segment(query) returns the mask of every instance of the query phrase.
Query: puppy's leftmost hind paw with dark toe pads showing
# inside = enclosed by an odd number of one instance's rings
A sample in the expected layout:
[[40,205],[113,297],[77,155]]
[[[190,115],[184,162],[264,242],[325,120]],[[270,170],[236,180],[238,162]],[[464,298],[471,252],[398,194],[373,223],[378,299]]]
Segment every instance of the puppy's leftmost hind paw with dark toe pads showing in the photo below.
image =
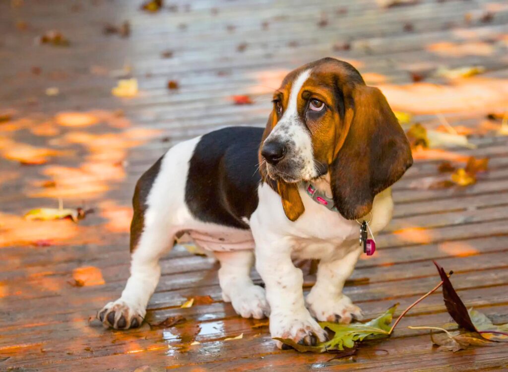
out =
[[136,308],[136,306],[129,305],[125,301],[118,299],[104,306],[97,313],[97,319],[105,327],[129,329],[139,327],[143,322],[145,314],[145,309]]

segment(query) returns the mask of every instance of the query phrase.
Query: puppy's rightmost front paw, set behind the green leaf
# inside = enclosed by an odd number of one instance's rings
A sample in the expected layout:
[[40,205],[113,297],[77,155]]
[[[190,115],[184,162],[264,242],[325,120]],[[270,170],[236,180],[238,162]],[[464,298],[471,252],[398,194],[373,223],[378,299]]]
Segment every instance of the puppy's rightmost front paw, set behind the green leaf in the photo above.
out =
[[320,322],[351,323],[363,318],[362,310],[343,294],[339,296],[313,296],[305,299],[310,314]]

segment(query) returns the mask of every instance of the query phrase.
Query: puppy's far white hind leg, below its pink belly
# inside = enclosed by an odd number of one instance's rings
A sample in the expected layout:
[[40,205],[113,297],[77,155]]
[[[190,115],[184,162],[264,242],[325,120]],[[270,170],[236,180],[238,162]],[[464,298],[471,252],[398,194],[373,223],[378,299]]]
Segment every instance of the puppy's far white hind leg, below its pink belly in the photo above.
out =
[[219,284],[225,302],[231,302],[243,318],[262,319],[270,314],[265,290],[252,283],[253,251],[214,252],[220,261]]

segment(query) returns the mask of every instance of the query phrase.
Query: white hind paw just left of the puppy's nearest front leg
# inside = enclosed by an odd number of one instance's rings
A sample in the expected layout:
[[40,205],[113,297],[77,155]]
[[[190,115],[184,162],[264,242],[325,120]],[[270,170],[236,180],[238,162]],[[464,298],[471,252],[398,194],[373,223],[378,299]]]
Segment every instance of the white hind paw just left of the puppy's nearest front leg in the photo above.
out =
[[270,315],[265,289],[260,286],[249,286],[237,291],[231,296],[231,304],[236,314],[242,318],[263,319]]

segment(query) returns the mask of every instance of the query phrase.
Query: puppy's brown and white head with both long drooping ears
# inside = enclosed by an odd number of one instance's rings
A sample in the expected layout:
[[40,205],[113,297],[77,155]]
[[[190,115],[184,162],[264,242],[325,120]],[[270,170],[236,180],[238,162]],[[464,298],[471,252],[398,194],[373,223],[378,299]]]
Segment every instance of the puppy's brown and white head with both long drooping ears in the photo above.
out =
[[334,58],[284,78],[273,96],[259,157],[262,177],[276,182],[291,221],[304,211],[301,181],[329,173],[335,206],[352,220],[366,215],[374,196],[412,164],[409,143],[385,96]]

